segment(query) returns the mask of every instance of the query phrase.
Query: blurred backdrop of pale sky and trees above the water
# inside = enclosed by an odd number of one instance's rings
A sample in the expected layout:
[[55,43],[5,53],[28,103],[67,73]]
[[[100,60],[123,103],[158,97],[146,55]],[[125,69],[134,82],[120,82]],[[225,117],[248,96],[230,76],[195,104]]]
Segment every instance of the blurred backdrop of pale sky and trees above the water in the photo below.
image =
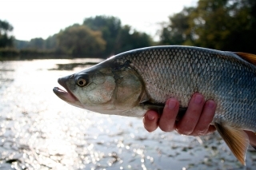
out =
[[2,1],[0,55],[110,57],[150,45],[256,53],[254,0]]

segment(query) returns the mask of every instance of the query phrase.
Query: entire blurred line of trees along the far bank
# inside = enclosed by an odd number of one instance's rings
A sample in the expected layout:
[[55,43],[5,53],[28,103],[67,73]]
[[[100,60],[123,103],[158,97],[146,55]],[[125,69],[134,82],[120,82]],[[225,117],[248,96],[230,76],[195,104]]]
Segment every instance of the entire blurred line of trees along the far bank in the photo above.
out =
[[40,51],[55,56],[110,57],[150,45],[194,45],[256,53],[256,1],[199,0],[197,6],[185,7],[161,24],[158,42],[131,26],[122,26],[119,18],[102,15],[85,18],[81,25],[69,26],[46,40],[18,41],[8,36],[12,30],[13,26],[0,20],[0,48],[15,47],[17,53],[25,54]]

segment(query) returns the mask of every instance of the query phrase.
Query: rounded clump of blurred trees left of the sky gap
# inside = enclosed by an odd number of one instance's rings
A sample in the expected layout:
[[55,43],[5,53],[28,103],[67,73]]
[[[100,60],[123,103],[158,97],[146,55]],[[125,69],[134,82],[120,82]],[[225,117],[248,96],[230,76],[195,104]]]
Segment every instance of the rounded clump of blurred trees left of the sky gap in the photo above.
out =
[[[86,18],[81,25],[68,26],[46,40],[14,40],[12,45],[23,55],[37,53],[52,54],[55,57],[68,55],[106,58],[126,50],[153,45],[153,41],[148,34],[134,30],[131,26],[122,26],[119,18],[100,15]],[[18,53],[18,50],[16,52]]]

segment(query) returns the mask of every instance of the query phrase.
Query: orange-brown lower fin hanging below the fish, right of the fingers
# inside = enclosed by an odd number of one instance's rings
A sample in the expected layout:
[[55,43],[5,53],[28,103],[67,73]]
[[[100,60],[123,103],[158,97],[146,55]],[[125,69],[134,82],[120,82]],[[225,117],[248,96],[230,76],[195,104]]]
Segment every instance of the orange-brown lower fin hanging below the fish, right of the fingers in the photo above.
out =
[[218,123],[215,123],[214,125],[223,140],[225,140],[231,152],[234,153],[234,156],[236,156],[243,165],[246,165],[246,152],[250,144],[246,132],[242,129],[233,128],[228,125],[220,125]]

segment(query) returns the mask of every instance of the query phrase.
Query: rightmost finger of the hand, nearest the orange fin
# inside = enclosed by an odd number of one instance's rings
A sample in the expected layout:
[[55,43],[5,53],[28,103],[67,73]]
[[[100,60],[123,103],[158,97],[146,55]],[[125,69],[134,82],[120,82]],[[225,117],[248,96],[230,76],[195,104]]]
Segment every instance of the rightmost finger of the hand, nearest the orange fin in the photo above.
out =
[[206,101],[202,109],[201,117],[198,120],[198,124],[195,126],[194,131],[190,135],[201,136],[208,133],[210,123],[214,119],[215,109],[216,104],[214,101]]

